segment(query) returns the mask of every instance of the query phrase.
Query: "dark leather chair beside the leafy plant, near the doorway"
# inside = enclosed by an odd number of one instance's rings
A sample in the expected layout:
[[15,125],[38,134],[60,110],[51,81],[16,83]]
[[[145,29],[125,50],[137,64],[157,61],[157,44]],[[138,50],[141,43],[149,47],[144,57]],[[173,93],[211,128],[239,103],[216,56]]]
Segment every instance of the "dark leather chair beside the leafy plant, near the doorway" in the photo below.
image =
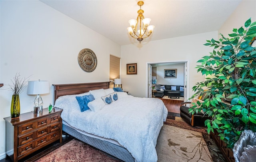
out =
[[182,102],[180,105],[180,117],[186,121],[188,124],[191,124],[191,126],[202,126],[205,127],[204,121],[206,119],[210,119],[208,115],[204,115],[201,112],[198,112],[197,114],[194,113],[193,115],[189,113],[189,108],[185,106],[184,104],[191,104],[191,102]]

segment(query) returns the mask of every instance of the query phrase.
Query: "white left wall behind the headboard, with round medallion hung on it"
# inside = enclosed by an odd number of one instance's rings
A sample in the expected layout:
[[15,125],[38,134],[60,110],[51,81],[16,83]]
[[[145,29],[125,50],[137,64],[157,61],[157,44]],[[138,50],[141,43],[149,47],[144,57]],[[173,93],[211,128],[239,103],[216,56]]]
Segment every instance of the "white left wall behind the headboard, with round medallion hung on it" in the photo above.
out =
[[[6,90],[16,72],[30,80],[62,83],[103,82],[109,80],[109,55],[120,57],[121,47],[108,38],[54,10],[33,1],[0,1],[0,159],[5,156],[5,122],[10,116],[12,92]],[[98,58],[93,72],[78,65],[78,53],[90,48]],[[20,94],[20,112],[33,110],[35,96]],[[53,103],[50,94],[42,96],[44,107]]]

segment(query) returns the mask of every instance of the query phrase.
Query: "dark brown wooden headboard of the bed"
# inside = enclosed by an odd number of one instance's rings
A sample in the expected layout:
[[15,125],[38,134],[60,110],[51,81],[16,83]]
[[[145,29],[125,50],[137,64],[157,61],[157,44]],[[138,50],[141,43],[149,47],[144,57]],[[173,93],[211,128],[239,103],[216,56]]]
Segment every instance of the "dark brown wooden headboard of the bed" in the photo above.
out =
[[76,83],[76,84],[52,84],[54,86],[54,103],[60,96],[81,94],[89,90],[108,89],[110,82]]

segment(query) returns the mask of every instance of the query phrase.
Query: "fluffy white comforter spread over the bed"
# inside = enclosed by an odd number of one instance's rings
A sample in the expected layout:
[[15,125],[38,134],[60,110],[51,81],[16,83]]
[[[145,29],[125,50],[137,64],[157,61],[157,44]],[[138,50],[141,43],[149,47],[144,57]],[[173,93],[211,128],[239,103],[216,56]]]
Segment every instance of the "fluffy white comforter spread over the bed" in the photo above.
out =
[[55,107],[62,120],[84,132],[116,140],[137,162],[156,162],[156,141],[168,110],[157,98],[127,95],[98,112],[80,112],[75,96],[61,96]]

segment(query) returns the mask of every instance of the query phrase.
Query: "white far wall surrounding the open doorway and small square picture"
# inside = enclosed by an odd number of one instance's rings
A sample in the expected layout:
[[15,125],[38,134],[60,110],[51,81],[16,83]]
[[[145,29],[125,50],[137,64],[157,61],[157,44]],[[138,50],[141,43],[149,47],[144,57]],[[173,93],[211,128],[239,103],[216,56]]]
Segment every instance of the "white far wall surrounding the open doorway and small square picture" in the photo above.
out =
[[[212,38],[218,38],[217,31],[165,40],[145,41],[137,46],[134,44],[122,46],[121,78],[123,89],[129,91],[129,94],[133,96],[146,97],[146,64],[151,62],[188,61],[189,82],[187,96],[189,98],[193,94],[192,86],[194,86],[196,82],[204,80],[204,76],[197,73],[195,67],[197,65],[196,62],[202,56],[212,52],[213,48],[203,45],[206,43],[206,39]],[[129,63],[137,63],[137,75],[126,75],[126,64]]]

